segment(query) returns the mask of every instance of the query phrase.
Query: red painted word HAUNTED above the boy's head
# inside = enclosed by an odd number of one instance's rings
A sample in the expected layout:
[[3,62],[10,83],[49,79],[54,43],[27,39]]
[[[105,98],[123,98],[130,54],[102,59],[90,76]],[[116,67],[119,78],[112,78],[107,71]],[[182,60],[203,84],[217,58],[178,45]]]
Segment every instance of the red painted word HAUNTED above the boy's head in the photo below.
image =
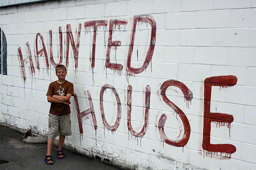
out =
[[[132,53],[133,53],[133,48],[134,48],[134,40],[135,40],[135,33],[136,33],[136,25],[137,23],[141,24],[149,24],[151,26],[151,38],[150,38],[150,44],[148,47],[148,51],[145,57],[145,60],[143,62],[143,65],[140,68],[133,68],[131,66],[131,58],[132,58]],[[113,41],[112,40],[112,35],[113,35],[113,29],[115,27],[126,26],[128,24],[128,21],[126,19],[111,19],[109,20],[109,36],[108,36],[108,46],[107,46],[107,52],[106,52],[106,62],[105,66],[106,68],[112,69],[114,71],[119,71],[121,74],[121,71],[123,70],[122,64],[118,63],[112,63],[110,62],[110,53],[111,53],[111,48],[117,48],[118,46],[121,46],[121,41]],[[85,28],[85,34],[88,32],[88,30],[93,29],[93,41],[92,41],[92,53],[91,53],[91,69],[93,71],[93,68],[95,67],[95,50],[96,50],[96,35],[99,27],[104,27],[106,29],[108,25],[107,20],[91,20],[91,21],[86,21],[84,23],[84,28]],[[77,37],[76,37],[76,43],[74,40],[74,36],[72,34],[72,29],[70,24],[67,24],[66,28],[66,41],[64,45],[66,45],[66,51],[64,53],[64,57],[66,57],[66,66],[67,68],[69,67],[69,45],[72,46],[72,51],[73,51],[73,57],[74,57],[74,66],[75,69],[78,68],[78,56],[79,56],[79,46],[80,46],[80,34],[81,34],[81,28],[82,24],[78,24],[78,30],[77,30]],[[42,48],[39,49],[39,44],[41,44]],[[128,55],[127,55],[127,60],[126,60],[126,73],[127,75],[134,75],[134,74],[139,74],[143,72],[145,69],[147,69],[153,53],[154,53],[154,46],[156,44],[156,22],[152,16],[134,16],[133,18],[133,23],[132,23],[132,31],[130,35],[130,44],[128,47]],[[56,63],[54,61],[53,57],[53,51],[52,51],[52,30],[49,30],[49,55],[50,55],[50,64],[54,66],[54,68],[58,64],[62,64],[63,62],[63,33],[62,33],[62,28],[59,27],[59,62]],[[22,51],[21,48],[18,48],[18,58],[19,58],[19,63],[21,67],[21,75],[23,77],[24,82],[26,81],[26,71],[24,68],[24,65],[28,62],[30,62],[30,71],[31,74],[35,73],[35,68],[34,68],[34,63],[32,60],[32,53],[30,50],[30,45],[27,42],[26,43],[26,51],[28,53],[28,57],[23,58],[22,56]],[[37,33],[35,37],[35,60],[37,64],[37,69],[40,69],[40,64],[39,64],[39,57],[45,57],[45,63],[46,63],[46,68],[47,68],[47,73],[48,73],[48,68],[50,67],[49,60],[48,60],[48,53],[47,49],[45,46],[45,40],[43,36],[40,33]]]

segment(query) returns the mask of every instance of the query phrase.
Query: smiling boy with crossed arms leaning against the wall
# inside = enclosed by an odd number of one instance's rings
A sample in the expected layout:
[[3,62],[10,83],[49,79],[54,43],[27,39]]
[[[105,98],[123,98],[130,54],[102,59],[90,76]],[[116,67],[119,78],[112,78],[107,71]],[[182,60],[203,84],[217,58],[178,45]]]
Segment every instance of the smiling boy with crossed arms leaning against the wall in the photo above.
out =
[[65,136],[70,136],[70,97],[74,95],[74,85],[65,80],[67,68],[64,65],[57,65],[55,68],[57,81],[51,82],[46,94],[48,102],[51,103],[49,112],[49,135],[47,141],[47,154],[45,155],[45,163],[52,165],[52,146],[54,138],[59,135],[58,159],[63,159],[62,146]]

